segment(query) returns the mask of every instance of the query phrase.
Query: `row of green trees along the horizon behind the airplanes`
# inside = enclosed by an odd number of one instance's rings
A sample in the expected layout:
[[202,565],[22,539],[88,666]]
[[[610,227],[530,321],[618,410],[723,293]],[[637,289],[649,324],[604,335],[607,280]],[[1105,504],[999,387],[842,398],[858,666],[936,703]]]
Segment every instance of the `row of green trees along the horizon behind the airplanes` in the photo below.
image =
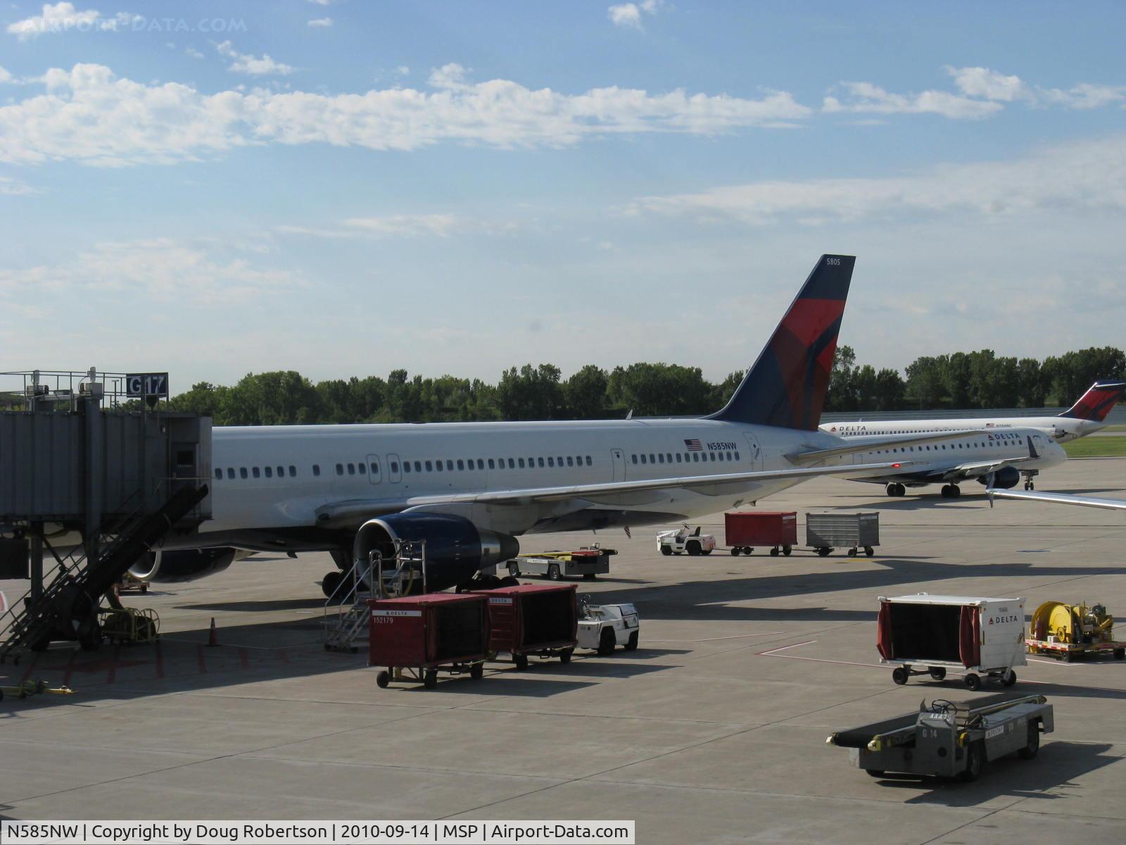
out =
[[[849,346],[837,350],[826,411],[1070,406],[1096,379],[1126,374],[1120,349],[1082,349],[1043,362],[998,357],[990,349],[921,357],[904,374],[858,365]],[[480,379],[411,376],[330,379],[301,373],[250,373],[225,386],[200,382],[173,397],[171,410],[209,413],[215,425],[320,422],[456,422],[518,419],[606,419],[690,416],[717,410],[743,377],[707,381],[699,367],[593,364],[564,379],[552,364],[525,364]]]

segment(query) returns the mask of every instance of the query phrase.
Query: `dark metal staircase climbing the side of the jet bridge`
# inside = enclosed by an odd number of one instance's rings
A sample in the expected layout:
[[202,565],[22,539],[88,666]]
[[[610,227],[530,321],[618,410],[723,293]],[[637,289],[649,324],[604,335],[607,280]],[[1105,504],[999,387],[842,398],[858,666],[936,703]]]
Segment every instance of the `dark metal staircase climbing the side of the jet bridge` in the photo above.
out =
[[182,487],[157,510],[138,508],[107,530],[92,546],[95,557],[87,555],[86,546],[63,558],[55,555],[59,566],[42,596],[33,601],[29,592],[0,616],[0,637],[5,638],[0,664],[9,658],[19,662],[26,650],[42,650],[52,639],[77,639],[86,649],[97,648],[101,597],[206,496],[206,484]]

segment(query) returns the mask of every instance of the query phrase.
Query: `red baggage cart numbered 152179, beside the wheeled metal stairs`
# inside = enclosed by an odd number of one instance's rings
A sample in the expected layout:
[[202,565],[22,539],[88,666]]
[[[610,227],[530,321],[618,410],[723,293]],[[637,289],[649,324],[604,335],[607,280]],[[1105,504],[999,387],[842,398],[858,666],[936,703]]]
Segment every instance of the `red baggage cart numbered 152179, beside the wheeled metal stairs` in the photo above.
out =
[[438,683],[438,671],[468,673],[476,679],[489,653],[488,596],[430,593],[401,598],[369,598],[368,666],[386,666],[375,682]]

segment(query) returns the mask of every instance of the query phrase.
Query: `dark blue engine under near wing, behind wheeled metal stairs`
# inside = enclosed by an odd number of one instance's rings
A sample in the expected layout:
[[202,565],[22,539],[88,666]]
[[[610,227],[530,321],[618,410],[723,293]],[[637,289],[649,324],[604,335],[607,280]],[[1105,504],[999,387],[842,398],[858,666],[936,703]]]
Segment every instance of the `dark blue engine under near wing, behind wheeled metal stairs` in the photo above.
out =
[[[426,587],[430,592],[464,584],[479,569],[509,561],[520,552],[519,541],[510,534],[479,528],[462,516],[419,512],[368,519],[356,535],[352,557],[366,562],[376,550],[384,570],[394,569],[396,540],[426,541]],[[421,584],[412,587],[414,592],[421,588]]]

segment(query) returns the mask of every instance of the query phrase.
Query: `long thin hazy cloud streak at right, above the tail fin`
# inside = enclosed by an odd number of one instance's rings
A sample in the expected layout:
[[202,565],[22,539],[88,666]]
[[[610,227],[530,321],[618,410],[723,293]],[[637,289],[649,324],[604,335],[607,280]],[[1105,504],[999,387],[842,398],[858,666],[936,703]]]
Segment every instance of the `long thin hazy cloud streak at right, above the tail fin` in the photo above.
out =
[[643,197],[626,208],[751,225],[908,215],[990,219],[1044,210],[1126,212],[1126,135],[1044,148],[1007,161],[939,164],[915,176],[761,181]]

